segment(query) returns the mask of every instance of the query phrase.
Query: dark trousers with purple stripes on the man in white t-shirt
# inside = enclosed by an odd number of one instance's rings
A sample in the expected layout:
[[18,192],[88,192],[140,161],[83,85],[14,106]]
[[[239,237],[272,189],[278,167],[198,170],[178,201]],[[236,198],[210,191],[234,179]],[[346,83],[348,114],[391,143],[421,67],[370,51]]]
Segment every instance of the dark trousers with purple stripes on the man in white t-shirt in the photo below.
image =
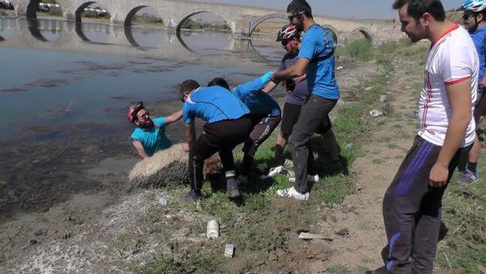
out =
[[[429,174],[440,153],[437,145],[416,136],[383,199],[383,220],[389,241],[386,269],[389,273],[432,273],[442,219],[442,188],[429,186]],[[458,149],[449,164],[449,178],[460,154]],[[415,231],[415,237],[412,232]],[[413,250],[413,251],[412,251]],[[413,258],[413,259],[412,259]]]

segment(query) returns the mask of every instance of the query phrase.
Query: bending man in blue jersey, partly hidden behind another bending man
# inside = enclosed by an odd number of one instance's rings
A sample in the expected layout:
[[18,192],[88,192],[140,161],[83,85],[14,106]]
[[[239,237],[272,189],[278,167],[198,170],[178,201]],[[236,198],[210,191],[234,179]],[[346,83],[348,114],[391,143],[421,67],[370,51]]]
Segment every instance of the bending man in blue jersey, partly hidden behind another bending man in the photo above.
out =
[[[250,82],[237,86],[232,91],[236,97],[243,102],[253,118],[253,130],[243,145],[243,168],[239,176],[239,181],[248,181],[248,172],[252,167],[256,149],[267,140],[274,129],[281,121],[281,110],[279,103],[272,96],[263,92],[262,89],[270,81],[272,72],[256,78]],[[223,78],[214,78],[207,86],[222,86],[231,90],[229,84]]]

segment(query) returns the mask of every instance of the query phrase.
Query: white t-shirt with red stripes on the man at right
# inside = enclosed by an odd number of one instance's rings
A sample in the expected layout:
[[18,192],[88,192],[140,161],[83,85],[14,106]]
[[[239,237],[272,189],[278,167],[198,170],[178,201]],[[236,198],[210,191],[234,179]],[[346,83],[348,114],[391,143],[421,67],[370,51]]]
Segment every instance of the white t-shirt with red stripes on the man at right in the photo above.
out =
[[[418,134],[434,145],[444,145],[452,116],[446,86],[471,80],[471,117],[478,96],[478,53],[469,33],[454,25],[431,45],[425,64],[424,87],[418,104]],[[474,119],[471,118],[461,147],[474,142]]]

